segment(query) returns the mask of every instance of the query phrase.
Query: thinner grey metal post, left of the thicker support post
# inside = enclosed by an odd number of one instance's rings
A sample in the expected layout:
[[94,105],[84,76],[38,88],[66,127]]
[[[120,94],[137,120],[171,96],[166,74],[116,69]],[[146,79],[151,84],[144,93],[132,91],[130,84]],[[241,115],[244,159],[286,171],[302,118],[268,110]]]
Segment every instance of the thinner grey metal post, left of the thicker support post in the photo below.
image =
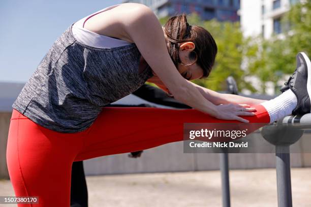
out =
[[230,207],[230,186],[229,186],[229,160],[228,153],[220,154],[220,169],[222,177],[223,206]]

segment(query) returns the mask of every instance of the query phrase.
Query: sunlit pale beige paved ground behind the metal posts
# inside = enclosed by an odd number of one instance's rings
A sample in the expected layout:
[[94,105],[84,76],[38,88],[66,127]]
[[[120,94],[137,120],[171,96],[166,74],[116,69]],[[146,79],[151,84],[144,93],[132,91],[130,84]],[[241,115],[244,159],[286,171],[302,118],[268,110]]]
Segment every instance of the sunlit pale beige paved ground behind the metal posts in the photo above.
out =
[[[311,168],[292,168],[293,206],[311,206]],[[275,169],[231,170],[232,206],[277,206]],[[219,171],[86,177],[89,207],[221,206]],[[8,180],[0,195],[14,195]],[[15,207],[15,205],[1,205]]]

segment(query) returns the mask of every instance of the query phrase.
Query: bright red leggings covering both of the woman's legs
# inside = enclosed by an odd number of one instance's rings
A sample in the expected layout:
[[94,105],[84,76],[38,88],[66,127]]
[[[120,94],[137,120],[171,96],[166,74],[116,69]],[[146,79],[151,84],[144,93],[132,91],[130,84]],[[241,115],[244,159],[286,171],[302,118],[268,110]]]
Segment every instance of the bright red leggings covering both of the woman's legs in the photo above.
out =
[[[253,107],[255,116],[242,117],[253,123],[269,123],[265,108]],[[241,123],[216,119],[194,109],[107,107],[86,130],[59,133],[13,110],[7,144],[11,183],[15,196],[39,196],[39,204],[18,206],[70,206],[74,161],[183,141],[184,122]]]

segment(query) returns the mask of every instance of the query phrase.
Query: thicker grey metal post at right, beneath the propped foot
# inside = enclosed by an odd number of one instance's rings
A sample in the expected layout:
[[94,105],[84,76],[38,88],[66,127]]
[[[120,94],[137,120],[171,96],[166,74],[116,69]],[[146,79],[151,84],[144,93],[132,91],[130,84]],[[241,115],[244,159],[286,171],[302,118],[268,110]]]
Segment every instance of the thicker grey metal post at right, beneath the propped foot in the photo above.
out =
[[275,146],[277,203],[279,207],[292,207],[291,165],[289,145]]

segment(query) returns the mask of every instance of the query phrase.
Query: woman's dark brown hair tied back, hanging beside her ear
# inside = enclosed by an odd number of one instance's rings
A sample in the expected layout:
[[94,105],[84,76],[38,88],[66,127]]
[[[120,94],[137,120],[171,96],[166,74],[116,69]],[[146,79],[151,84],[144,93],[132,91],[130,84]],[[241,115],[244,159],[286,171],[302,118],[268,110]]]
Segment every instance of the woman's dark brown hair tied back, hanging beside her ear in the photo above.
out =
[[202,78],[208,77],[217,54],[217,45],[211,34],[201,26],[189,25],[184,13],[169,18],[164,31],[170,42],[168,51],[175,66],[181,63],[178,43],[190,41],[196,45],[190,53],[190,59],[197,58],[197,64],[203,69]]

